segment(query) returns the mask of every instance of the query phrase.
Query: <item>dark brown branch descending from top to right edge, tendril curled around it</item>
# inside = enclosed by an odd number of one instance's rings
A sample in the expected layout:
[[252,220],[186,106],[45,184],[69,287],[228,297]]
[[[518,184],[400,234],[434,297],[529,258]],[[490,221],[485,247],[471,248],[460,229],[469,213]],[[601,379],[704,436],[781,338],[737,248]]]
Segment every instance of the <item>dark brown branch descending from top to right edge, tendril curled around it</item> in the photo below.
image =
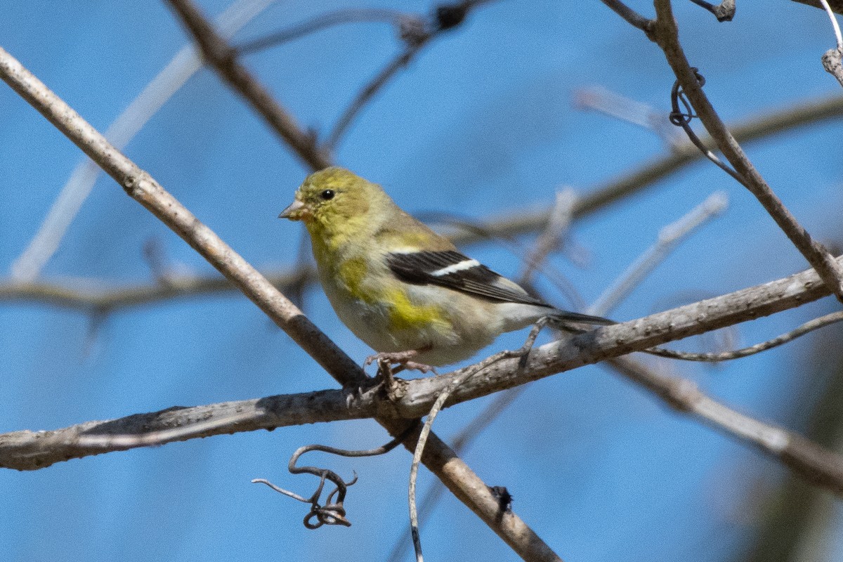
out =
[[685,51],[679,43],[679,29],[674,20],[670,0],[655,0],[657,19],[652,26],[652,39],[662,48],[668,64],[673,69],[677,81],[690,99],[706,131],[717,143],[717,147],[732,164],[735,171],[743,178],[741,182],[770,214],[781,230],[787,234],[794,246],[803,254],[805,260],[813,266],[835,296],[843,302],[843,269],[834,257],[808,234],[796,217],[787,209],[776,194],[767,185],[765,179],[749,161],[738,141],[720,120],[720,116],[702,90],[694,68],[690,67]]

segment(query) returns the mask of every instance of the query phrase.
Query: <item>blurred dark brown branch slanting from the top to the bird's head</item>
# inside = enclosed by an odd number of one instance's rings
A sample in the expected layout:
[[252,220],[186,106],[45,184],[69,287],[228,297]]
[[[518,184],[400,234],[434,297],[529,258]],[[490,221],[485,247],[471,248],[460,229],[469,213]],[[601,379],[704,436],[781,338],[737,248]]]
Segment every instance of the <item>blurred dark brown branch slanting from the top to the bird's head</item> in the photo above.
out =
[[330,166],[330,156],[316,146],[314,136],[302,131],[293,117],[287,114],[287,110],[277,103],[263,84],[240,64],[236,51],[228,45],[222,35],[213,29],[196,5],[191,0],[169,0],[169,4],[196,40],[208,64],[249,102],[252,108],[282,137],[282,140],[293,148],[293,152],[311,169],[323,169]]

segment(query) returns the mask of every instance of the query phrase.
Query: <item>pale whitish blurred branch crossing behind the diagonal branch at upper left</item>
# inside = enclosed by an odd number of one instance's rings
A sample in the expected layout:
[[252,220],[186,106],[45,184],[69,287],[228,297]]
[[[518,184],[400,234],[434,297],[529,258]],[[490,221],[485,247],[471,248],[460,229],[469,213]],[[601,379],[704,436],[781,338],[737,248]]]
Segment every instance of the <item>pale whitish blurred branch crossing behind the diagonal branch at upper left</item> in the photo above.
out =
[[[217,19],[220,33],[227,37],[234,35],[272,2],[274,0],[237,0]],[[105,137],[122,150],[201,66],[201,57],[196,48],[193,45],[182,47],[111,123],[105,131]],[[73,169],[35,237],[17,260],[13,261],[11,273],[15,281],[32,281],[40,276],[44,265],[62,244],[67,228],[94,189],[100,171],[99,166],[89,158],[83,158]]]

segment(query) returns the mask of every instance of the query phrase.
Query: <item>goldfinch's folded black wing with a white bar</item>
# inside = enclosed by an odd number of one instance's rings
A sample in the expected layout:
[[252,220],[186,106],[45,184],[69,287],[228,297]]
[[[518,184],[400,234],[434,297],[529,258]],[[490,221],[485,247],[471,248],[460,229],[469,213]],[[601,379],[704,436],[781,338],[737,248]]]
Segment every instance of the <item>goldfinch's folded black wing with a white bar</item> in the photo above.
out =
[[455,250],[393,252],[386,256],[389,270],[413,285],[437,285],[496,302],[520,302],[550,307],[520,286]]

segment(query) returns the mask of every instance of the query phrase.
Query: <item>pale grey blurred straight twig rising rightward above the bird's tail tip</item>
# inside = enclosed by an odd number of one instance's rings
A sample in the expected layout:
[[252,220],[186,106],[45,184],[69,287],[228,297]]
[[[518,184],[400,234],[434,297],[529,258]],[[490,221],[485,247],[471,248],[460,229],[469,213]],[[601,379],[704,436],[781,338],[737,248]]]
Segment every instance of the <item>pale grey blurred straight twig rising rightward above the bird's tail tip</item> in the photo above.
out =
[[690,236],[696,228],[722,213],[726,206],[728,206],[728,195],[723,191],[717,191],[709,195],[706,201],[691,209],[685,217],[663,227],[658,233],[656,242],[632,262],[626,271],[593,302],[588,308],[588,313],[595,316],[609,314],[682,240]]

